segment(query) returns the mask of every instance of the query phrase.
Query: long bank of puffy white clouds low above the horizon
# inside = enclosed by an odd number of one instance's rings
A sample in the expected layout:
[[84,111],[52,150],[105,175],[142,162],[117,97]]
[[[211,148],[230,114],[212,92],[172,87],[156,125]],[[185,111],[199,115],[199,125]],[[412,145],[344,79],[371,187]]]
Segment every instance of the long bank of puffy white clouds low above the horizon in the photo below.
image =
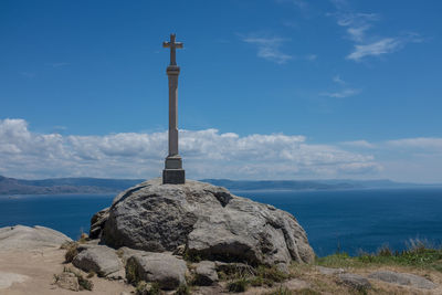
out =
[[[62,136],[32,133],[23,119],[0,120],[0,173],[9,177],[157,177],[166,148],[166,131]],[[370,155],[284,134],[182,130],[180,152],[188,176],[196,179],[334,178],[381,169]]]

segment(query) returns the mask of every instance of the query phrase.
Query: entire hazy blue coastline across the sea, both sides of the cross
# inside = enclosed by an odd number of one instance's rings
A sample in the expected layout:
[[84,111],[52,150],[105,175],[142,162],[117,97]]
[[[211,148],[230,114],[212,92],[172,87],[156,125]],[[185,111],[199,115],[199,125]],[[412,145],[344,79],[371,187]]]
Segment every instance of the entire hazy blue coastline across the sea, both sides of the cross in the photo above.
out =
[[[117,193],[133,187],[144,179],[103,179],[103,178],[53,178],[43,180],[24,180],[0,176],[0,196],[10,194],[102,194]],[[308,191],[308,190],[346,190],[346,189],[386,189],[386,188],[432,188],[441,185],[419,185],[381,180],[230,180],[202,179],[214,186],[234,191]]]

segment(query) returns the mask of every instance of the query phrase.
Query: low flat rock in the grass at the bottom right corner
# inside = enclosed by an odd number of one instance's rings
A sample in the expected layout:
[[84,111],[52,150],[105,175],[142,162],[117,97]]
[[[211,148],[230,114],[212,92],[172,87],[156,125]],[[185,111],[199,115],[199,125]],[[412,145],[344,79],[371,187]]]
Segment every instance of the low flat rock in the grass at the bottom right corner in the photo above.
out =
[[391,271],[379,271],[370,274],[368,277],[380,280],[387,283],[393,283],[397,285],[407,285],[418,288],[431,289],[438,287],[438,285],[434,284],[433,282],[414,274],[396,273]]

